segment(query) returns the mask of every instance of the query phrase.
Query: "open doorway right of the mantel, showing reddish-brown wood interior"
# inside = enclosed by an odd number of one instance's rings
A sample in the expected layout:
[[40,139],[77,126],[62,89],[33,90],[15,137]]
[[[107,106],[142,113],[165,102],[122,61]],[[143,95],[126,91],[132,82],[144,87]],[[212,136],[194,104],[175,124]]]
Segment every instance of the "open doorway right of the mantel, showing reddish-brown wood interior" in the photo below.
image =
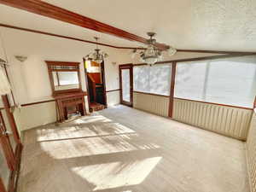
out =
[[90,113],[107,108],[104,61],[84,60],[84,75]]

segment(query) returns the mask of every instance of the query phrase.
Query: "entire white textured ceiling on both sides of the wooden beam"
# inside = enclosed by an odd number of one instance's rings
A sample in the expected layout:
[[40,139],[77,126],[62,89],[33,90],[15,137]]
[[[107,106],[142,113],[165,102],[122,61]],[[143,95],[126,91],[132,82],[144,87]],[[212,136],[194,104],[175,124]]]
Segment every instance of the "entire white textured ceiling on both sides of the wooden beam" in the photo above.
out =
[[[44,0],[177,49],[256,51],[255,0]],[[92,40],[96,32],[0,5],[0,22]],[[100,35],[103,43],[136,42]]]

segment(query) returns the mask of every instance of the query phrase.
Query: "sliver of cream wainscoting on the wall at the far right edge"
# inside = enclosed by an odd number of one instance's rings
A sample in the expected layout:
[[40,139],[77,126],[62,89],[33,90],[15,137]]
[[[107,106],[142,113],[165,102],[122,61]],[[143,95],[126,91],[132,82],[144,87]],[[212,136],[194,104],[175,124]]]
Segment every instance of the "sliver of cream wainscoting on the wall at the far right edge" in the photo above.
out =
[[256,112],[250,125],[247,137],[247,165],[252,192],[256,192]]

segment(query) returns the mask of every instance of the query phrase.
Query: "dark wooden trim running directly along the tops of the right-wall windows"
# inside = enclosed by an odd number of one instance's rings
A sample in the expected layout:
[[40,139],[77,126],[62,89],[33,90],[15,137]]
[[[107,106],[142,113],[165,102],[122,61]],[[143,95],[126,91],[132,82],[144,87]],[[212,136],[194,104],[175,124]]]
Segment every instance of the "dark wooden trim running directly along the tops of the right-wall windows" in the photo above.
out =
[[[156,62],[156,64],[172,64],[172,62],[189,62],[189,61],[206,61],[206,60],[217,60],[217,59],[224,59],[224,58],[230,58],[230,57],[237,57],[237,56],[247,56],[247,55],[256,55],[256,53],[242,53],[242,54],[225,54],[225,55],[214,55],[214,56],[204,56],[204,57],[195,57],[195,58],[189,58],[189,59],[179,59],[179,60],[170,60],[170,61],[160,61]],[[145,66],[148,65],[147,63],[138,63],[134,64],[133,66]]]

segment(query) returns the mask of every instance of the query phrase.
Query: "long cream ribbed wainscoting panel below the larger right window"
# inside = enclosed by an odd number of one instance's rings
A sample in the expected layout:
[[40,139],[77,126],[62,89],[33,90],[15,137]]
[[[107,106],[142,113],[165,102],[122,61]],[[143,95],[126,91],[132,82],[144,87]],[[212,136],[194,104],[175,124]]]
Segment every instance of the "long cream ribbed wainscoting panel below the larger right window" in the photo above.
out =
[[247,139],[253,110],[217,104],[174,99],[173,119],[218,132],[225,136]]

